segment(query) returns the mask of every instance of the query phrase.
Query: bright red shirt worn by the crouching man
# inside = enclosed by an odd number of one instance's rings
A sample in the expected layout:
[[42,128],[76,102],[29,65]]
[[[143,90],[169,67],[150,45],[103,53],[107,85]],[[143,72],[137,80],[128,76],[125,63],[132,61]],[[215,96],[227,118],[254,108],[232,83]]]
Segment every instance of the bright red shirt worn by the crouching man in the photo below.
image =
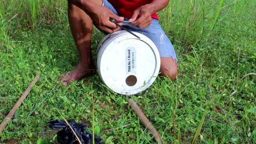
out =
[[[131,18],[133,11],[142,5],[146,5],[151,2],[151,0],[108,0],[111,3],[118,14],[124,18]],[[156,13],[151,15],[151,18],[158,20]]]

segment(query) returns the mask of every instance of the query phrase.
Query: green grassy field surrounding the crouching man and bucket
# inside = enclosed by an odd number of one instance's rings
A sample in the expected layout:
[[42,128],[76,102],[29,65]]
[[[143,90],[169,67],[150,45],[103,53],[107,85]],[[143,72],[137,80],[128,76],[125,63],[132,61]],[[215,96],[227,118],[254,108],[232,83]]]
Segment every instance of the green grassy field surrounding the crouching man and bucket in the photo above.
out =
[[[256,143],[255,13],[253,0],[171,0],[158,13],[179,74],[176,81],[159,76],[131,98],[166,143],[191,143],[196,136],[196,143]],[[86,84],[57,82],[79,62],[66,1],[2,2],[0,34],[0,122],[41,75],[0,143],[57,143],[57,131],[47,123],[61,115],[86,123],[106,143],[154,143],[129,98],[110,91],[98,74]],[[103,36],[94,30],[94,56]]]

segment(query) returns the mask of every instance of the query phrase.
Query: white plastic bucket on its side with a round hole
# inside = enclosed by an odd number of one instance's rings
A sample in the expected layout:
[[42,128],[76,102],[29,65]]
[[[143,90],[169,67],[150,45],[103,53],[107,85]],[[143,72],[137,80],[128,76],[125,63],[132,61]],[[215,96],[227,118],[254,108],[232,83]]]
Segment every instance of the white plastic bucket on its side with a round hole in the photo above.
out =
[[137,94],[156,79],[160,56],[145,35],[125,30],[106,35],[98,45],[97,68],[101,80],[120,94]]

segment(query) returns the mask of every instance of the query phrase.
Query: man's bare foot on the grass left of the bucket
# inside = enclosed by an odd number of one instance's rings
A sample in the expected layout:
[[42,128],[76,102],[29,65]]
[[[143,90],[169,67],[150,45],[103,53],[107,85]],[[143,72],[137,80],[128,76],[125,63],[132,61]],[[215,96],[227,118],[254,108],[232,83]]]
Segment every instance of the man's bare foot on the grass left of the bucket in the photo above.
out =
[[95,69],[93,65],[91,65],[90,67],[85,67],[84,65],[79,63],[78,66],[76,66],[76,68],[74,68],[72,71],[61,74],[58,81],[63,81],[62,85],[67,86],[69,82],[78,81],[81,78],[94,73],[94,71]]

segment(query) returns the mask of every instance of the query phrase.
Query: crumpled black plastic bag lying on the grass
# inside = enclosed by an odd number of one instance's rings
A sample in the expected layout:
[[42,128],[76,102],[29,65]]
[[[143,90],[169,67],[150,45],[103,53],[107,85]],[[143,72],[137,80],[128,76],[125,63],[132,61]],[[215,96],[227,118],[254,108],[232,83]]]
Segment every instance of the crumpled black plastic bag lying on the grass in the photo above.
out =
[[[72,129],[75,131],[77,137],[83,144],[92,144],[92,133],[87,132],[83,129],[83,127],[86,127],[85,123],[76,123],[74,119],[68,121],[69,125],[72,127]],[[62,144],[77,144],[79,143],[76,135],[73,133],[73,131],[70,129],[70,127],[67,125],[65,121],[62,121],[60,119],[51,119],[49,121],[49,126],[53,129],[60,129],[61,131],[57,133],[57,139],[59,143]],[[101,138],[94,134],[94,142],[95,144],[102,144]]]

